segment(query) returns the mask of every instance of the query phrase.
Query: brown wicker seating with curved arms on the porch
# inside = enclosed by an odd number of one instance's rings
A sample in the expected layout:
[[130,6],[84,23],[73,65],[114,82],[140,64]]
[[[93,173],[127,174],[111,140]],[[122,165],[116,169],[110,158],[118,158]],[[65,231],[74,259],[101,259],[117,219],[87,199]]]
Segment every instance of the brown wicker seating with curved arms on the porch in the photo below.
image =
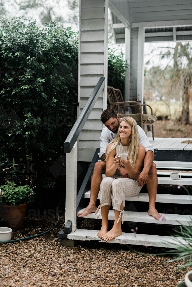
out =
[[[157,117],[153,115],[153,110],[151,106],[147,104],[139,104],[136,101],[123,101],[123,96],[121,94],[121,91],[119,89],[114,89],[113,87],[107,87],[107,98],[108,98],[108,108],[114,108],[114,110],[117,111],[120,117],[132,117],[136,121],[140,121],[141,128],[143,129],[144,125],[151,125],[152,127],[152,135],[154,139],[154,129],[153,124],[157,120]],[[142,113],[142,106],[149,106],[151,109],[151,115],[145,115]],[[139,113],[135,114],[126,114],[126,107],[130,107],[132,110],[133,107],[137,107],[137,111]]]

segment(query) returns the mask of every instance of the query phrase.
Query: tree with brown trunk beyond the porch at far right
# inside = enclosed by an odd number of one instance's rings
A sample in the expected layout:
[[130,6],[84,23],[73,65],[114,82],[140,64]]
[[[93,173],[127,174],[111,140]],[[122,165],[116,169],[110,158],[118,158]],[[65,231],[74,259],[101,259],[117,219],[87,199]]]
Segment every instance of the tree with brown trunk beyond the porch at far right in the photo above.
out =
[[192,44],[191,42],[176,43],[174,48],[167,47],[165,53],[161,53],[161,59],[167,57],[173,59],[173,71],[171,74],[172,90],[182,86],[182,123],[189,124],[189,89],[192,84]]

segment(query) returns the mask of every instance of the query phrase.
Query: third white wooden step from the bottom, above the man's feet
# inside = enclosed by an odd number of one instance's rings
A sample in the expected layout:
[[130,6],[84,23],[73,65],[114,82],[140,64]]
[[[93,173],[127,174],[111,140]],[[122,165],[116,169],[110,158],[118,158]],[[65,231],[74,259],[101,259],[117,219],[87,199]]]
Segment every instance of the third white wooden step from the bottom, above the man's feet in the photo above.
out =
[[[85,198],[90,198],[91,191],[85,192]],[[100,191],[97,199],[100,198]],[[125,197],[128,201],[143,201],[149,202],[148,193],[139,193],[137,196]],[[159,194],[157,193],[156,201],[162,203],[179,203],[179,204],[192,204],[192,196],[190,195],[177,195],[177,194]]]

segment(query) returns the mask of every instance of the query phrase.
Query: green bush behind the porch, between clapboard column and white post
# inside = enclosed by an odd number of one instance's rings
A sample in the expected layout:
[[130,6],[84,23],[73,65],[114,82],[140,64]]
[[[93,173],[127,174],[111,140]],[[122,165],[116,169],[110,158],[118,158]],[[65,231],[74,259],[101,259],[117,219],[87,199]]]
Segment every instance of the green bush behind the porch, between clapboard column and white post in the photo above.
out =
[[128,66],[124,53],[116,48],[108,48],[108,79],[107,86],[119,89],[124,97],[125,69]]

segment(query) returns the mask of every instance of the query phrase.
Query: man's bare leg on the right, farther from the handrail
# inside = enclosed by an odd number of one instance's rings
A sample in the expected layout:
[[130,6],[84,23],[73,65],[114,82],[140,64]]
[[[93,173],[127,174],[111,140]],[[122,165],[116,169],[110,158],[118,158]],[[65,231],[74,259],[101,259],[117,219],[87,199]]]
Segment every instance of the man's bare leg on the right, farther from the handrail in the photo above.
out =
[[149,170],[149,178],[147,181],[147,190],[149,193],[149,211],[148,214],[153,216],[155,219],[159,220],[161,215],[157,212],[155,208],[155,200],[157,195],[157,169],[156,165],[153,162],[150,170]]

